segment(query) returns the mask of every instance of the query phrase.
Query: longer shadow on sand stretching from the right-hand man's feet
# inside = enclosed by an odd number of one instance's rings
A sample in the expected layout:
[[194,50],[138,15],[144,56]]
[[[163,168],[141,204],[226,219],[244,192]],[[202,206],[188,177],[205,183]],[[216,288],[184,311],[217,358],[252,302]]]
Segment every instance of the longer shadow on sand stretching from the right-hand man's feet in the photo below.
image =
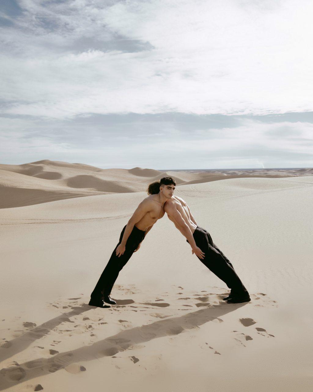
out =
[[[142,325],[141,327],[130,328],[101,341],[97,341],[90,346],[59,353],[49,359],[38,358],[22,363],[21,365],[16,364],[8,368],[3,368],[0,371],[0,390],[18,385],[35,377],[56,372],[71,363],[113,356],[118,352],[125,351],[132,345],[148,342],[164,336],[178,335],[185,330],[199,327],[244,305],[246,304],[213,305],[210,308],[196,310],[180,317],[163,319],[148,325]],[[88,305],[77,307],[77,311],[81,308],[81,313],[85,312],[87,307]],[[90,307],[88,307],[89,309]],[[77,314],[77,311],[75,314]],[[48,323],[50,322],[48,321]]]

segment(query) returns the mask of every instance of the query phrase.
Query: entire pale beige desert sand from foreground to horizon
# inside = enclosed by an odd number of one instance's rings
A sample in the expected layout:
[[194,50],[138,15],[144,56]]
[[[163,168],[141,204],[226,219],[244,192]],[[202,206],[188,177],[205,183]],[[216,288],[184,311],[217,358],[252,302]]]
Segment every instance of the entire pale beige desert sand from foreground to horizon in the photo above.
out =
[[[27,165],[62,177],[0,167],[2,202],[12,202],[0,210],[0,390],[312,390],[309,169],[259,174],[277,178],[167,171],[185,183],[177,196],[232,261],[250,303],[221,300],[227,287],[165,215],[120,272],[117,305],[99,309],[86,305],[90,292],[147,185],[164,172],[41,162]],[[202,181],[211,174],[215,181]],[[89,187],[92,175],[110,182],[108,194]],[[68,185],[77,176],[88,176],[77,180],[85,188]]]

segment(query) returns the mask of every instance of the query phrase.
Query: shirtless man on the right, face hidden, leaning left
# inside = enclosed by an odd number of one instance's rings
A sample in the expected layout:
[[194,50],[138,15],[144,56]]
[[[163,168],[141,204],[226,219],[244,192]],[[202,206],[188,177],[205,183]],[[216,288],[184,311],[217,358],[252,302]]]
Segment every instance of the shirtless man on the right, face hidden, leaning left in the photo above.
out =
[[[173,185],[170,187],[174,193],[175,187]],[[249,293],[237,276],[234,267],[213,243],[207,230],[197,225],[187,203],[182,198],[173,195],[165,203],[164,210],[176,228],[187,238],[192,254],[196,254],[200,261],[230,288],[230,294],[224,300],[227,303],[250,301]]]

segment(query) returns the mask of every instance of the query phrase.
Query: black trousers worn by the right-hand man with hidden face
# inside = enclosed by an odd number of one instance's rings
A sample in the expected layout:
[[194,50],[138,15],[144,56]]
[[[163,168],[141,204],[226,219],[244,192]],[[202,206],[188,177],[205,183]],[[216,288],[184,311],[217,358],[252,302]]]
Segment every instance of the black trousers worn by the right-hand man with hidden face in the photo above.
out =
[[[209,232],[197,226],[192,236],[197,247],[205,253],[203,259],[198,258],[205,267],[218,276],[231,289],[232,294],[237,296],[248,295],[248,291],[236,274],[232,263],[214,244]],[[187,242],[189,243],[188,240]]]

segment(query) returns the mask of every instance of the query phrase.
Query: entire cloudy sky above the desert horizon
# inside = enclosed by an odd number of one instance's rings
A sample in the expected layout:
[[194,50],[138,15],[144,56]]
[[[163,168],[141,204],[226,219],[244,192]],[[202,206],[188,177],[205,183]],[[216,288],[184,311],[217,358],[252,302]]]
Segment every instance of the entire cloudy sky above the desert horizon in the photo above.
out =
[[0,163],[313,166],[311,0],[2,0]]

